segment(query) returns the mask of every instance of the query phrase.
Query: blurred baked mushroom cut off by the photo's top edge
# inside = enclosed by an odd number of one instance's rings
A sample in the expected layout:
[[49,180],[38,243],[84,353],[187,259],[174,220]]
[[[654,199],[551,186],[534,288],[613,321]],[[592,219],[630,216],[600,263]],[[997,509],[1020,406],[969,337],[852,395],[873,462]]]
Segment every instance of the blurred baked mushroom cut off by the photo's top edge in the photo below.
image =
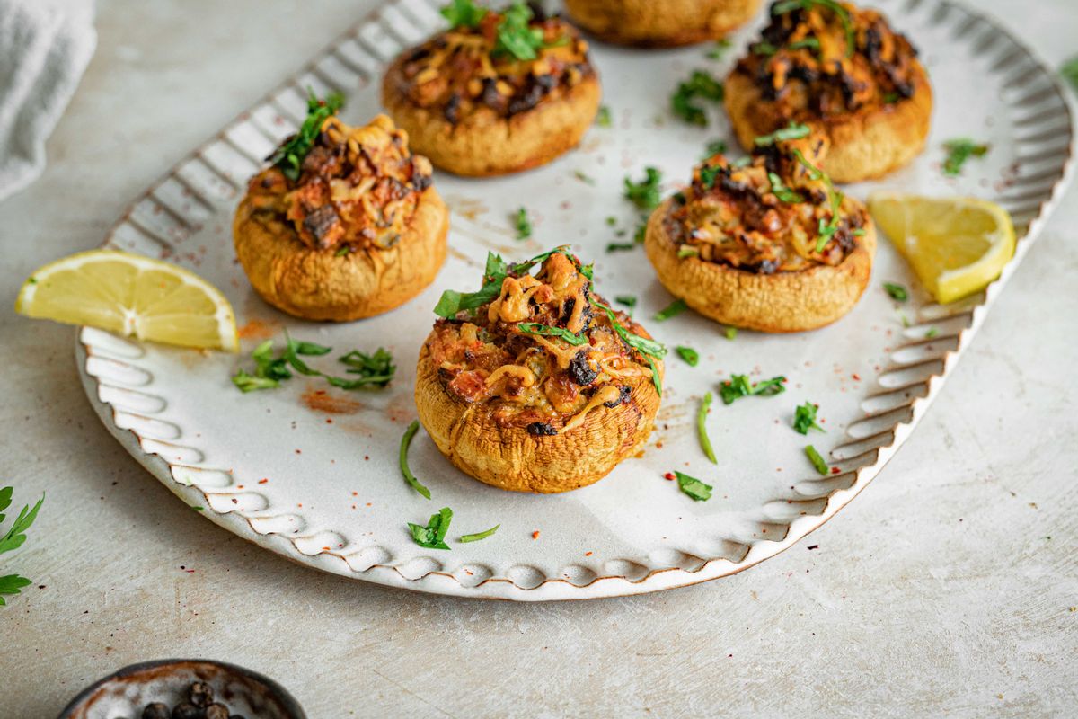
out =
[[566,0],[565,6],[606,42],[671,46],[721,39],[751,19],[760,0]]

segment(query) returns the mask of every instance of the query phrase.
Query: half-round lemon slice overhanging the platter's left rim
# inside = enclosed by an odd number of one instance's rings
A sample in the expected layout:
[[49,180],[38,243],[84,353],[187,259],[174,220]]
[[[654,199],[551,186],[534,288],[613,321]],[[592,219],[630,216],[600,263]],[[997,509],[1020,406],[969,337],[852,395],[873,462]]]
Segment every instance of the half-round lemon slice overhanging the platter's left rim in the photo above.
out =
[[236,351],[236,319],[221,292],[194,273],[119,250],[92,250],[40,267],[15,312],[182,347]]

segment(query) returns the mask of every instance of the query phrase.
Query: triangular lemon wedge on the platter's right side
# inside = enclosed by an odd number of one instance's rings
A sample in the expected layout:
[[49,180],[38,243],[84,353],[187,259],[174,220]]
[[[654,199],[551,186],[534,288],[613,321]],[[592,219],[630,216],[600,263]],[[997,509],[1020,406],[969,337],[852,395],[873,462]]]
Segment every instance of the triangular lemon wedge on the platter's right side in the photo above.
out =
[[869,211],[938,302],[983,290],[1014,254],[1010,215],[985,199],[880,192]]

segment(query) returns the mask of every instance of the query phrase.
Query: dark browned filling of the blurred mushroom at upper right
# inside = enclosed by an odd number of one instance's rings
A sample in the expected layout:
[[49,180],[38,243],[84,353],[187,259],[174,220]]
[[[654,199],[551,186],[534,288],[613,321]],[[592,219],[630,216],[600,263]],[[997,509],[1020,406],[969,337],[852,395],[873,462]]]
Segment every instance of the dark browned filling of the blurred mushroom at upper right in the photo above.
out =
[[917,51],[873,10],[778,0],[736,71],[785,119],[827,119],[913,96]]

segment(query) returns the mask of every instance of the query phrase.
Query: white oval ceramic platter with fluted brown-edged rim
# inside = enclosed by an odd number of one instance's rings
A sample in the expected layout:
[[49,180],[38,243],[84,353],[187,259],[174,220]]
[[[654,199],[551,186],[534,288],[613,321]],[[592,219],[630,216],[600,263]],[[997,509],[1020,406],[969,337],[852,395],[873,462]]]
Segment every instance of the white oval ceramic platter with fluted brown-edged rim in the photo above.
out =
[[[941,308],[882,241],[865,298],[824,330],[741,332],[730,341],[721,327],[690,313],[659,323],[649,318],[672,298],[641,249],[605,251],[618,240],[606,218],[616,217],[631,238],[637,213],[621,197],[625,175],[640,177],[654,165],[673,191],[708,140],[733,146],[720,108],[711,109],[710,127],[690,127],[669,115],[668,98],[694,68],[724,75],[756,28],[738,33],[719,61],[705,57],[707,47],[642,52],[596,44],[612,127],[594,127],[578,151],[523,175],[475,181],[438,174],[453,230],[450,259],[433,287],[371,320],[290,319],[253,294],[236,264],[231,218],[238,195],[261,158],[302,120],[307,86],[319,94],[343,91],[349,122],[376,113],[382,66],[440,27],[438,4],[386,3],[175,168],[110,235],[110,246],[181,263],[221,288],[243,326],[243,355],[137,345],[89,329],[79,335],[87,395],[154,476],[229,530],[326,571],[440,594],[582,599],[701,582],[775,555],[848,502],[909,437],[1068,179],[1067,100],[1028,51],[944,0],[879,2],[922,51],[937,100],[932,134],[911,167],[848,191],[863,197],[888,186],[992,198],[1014,218],[1021,237],[1014,260],[986,292]],[[962,178],[944,179],[941,143],[962,136],[987,141],[992,151],[969,162]],[[535,224],[526,241],[515,240],[511,229],[510,216],[521,206]],[[415,359],[439,294],[478,287],[487,250],[520,260],[559,244],[596,261],[598,290],[607,298],[638,295],[637,317],[668,345],[696,348],[700,365],[689,368],[672,354],[651,442],[596,485],[561,496],[501,492],[458,472],[420,432],[411,462],[433,493],[424,499],[403,482],[397,452],[415,417]],[[881,289],[887,280],[913,288],[900,310]],[[247,354],[260,340],[280,338],[286,328],[340,354],[386,346],[398,362],[397,378],[381,392],[345,392],[298,377],[281,389],[241,395],[230,376],[239,365],[250,369]],[[317,359],[329,364],[332,357]],[[719,457],[714,466],[699,448],[694,415],[700,398],[732,373],[783,374],[788,391],[718,403],[708,419]],[[806,400],[819,404],[826,434],[805,438],[791,429],[794,407]],[[808,442],[829,454],[835,473],[814,471],[803,454]],[[663,479],[675,469],[713,484],[715,496],[695,502],[681,494]],[[452,551],[416,545],[406,523],[424,524],[442,507],[455,512]],[[494,524],[501,525],[494,537],[455,541]]]

